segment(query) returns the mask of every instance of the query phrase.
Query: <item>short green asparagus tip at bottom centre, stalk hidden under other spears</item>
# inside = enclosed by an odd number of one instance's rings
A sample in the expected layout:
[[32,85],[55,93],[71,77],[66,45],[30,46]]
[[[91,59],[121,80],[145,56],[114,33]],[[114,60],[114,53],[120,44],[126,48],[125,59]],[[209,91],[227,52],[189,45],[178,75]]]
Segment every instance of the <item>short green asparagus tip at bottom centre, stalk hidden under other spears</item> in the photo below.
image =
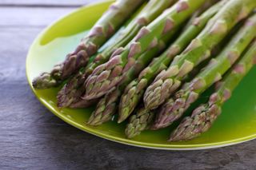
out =
[[129,123],[126,125],[126,137],[133,138],[138,136],[142,131],[150,128],[150,124],[154,121],[154,112],[145,108],[138,109],[137,114],[130,117]]

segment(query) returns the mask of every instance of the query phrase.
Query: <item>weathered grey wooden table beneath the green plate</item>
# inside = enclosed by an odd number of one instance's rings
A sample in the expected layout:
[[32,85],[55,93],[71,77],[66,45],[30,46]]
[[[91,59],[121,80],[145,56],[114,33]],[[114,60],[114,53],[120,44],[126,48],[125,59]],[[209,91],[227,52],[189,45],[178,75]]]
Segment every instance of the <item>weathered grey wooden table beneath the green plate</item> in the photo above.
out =
[[26,81],[26,53],[50,22],[99,0],[0,1],[0,169],[255,169],[256,140],[162,151],[104,140],[50,113]]

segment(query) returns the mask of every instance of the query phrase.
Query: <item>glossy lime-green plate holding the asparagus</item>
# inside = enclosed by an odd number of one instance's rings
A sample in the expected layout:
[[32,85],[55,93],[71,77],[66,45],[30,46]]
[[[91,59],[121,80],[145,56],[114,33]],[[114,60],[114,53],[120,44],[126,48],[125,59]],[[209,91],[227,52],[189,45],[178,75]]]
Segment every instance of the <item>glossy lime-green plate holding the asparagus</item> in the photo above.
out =
[[[90,30],[94,22],[110,5],[111,1],[82,7],[42,31],[26,58],[26,74],[30,83],[43,71],[62,61],[66,53],[72,51],[80,39]],[[223,107],[222,115],[206,132],[197,139],[186,142],[167,142],[174,127],[158,131],[146,131],[132,140],[126,139],[124,128],[126,122],[118,125],[115,121],[98,127],[86,125],[94,108],[90,109],[58,109],[56,107],[56,89],[34,91],[38,100],[52,113],[76,128],[101,136],[108,140],[146,148],[161,149],[199,149],[216,148],[230,144],[238,144],[256,136],[256,68],[254,68],[235,90],[230,101]]]

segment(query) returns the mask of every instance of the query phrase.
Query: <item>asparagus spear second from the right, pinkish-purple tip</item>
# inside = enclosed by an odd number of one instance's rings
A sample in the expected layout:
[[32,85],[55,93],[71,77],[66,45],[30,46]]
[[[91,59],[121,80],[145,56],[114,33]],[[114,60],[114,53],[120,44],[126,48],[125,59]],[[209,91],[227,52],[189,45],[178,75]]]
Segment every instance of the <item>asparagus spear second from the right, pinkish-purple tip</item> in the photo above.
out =
[[182,89],[175,93],[160,109],[152,129],[164,128],[176,121],[182,116],[182,113],[198,99],[214,82],[219,81],[222,75],[226,73],[234,61],[240,57],[242,51],[250,44],[256,36],[256,14],[247,19],[238,33],[234,35],[225,49],[218,57],[212,59],[209,65],[202,70],[198,76],[188,83]]

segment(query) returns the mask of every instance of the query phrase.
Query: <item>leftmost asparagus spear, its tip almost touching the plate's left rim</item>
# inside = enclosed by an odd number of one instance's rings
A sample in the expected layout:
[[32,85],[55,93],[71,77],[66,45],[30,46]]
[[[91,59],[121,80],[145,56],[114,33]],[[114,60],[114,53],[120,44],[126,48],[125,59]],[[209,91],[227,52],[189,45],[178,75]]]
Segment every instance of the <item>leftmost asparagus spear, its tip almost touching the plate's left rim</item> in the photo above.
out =
[[142,5],[142,2],[145,0],[118,0],[112,4],[110,9],[96,22],[90,33],[82,39],[77,49],[67,54],[65,61],[54,65],[50,73],[45,72],[34,78],[34,88],[47,89],[60,85],[72,73],[85,66],[89,57],[97,52],[98,48],[130,17],[130,14]]

